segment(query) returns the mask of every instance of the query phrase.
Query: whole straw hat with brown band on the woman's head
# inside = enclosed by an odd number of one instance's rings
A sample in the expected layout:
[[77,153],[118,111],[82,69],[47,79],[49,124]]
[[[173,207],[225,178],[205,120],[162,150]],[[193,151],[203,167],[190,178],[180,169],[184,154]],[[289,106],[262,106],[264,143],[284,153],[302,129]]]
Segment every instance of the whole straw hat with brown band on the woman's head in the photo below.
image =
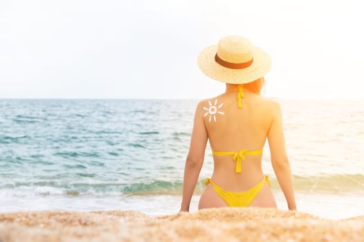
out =
[[197,62],[201,71],[219,82],[245,84],[268,73],[271,58],[241,36],[227,36],[204,48]]

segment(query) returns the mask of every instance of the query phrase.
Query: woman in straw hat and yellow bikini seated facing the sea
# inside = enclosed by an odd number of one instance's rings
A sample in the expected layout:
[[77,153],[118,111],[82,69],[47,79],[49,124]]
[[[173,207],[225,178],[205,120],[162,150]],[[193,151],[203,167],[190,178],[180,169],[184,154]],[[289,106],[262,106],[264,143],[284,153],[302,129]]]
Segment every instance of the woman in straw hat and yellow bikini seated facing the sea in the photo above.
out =
[[208,77],[226,83],[226,91],[197,105],[185,161],[181,212],[190,209],[208,140],[214,171],[206,179],[199,209],[277,207],[269,178],[262,171],[262,149],[267,138],[278,183],[289,210],[295,210],[280,105],[260,95],[271,59],[244,37],[228,36],[202,50],[198,62]]

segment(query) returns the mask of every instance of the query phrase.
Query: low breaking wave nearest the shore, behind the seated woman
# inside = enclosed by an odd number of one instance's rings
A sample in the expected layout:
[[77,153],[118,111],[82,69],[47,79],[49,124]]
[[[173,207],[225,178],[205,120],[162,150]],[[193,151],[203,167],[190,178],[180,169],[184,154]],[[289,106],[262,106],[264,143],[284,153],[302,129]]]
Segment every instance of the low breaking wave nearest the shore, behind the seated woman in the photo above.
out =
[[[79,174],[83,178],[95,178],[95,174]],[[279,189],[277,180],[270,178],[273,190]],[[202,194],[205,187],[204,179],[197,182],[195,194]],[[334,176],[293,176],[296,192],[307,194],[347,194],[352,192],[363,193],[364,176],[362,174],[336,174]],[[152,180],[138,183],[61,183],[57,181],[37,181],[29,183],[0,184],[0,194],[5,190],[13,195],[51,195],[64,194],[72,196],[82,195],[180,195],[182,194],[183,180],[167,181]]]

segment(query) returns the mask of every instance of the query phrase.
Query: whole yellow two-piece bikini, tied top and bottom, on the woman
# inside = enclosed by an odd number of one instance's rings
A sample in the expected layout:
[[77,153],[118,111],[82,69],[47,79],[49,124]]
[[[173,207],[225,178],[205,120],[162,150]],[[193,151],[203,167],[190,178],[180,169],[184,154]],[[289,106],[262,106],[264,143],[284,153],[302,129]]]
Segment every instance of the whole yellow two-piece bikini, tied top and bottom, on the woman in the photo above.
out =
[[[237,94],[237,103],[239,109],[242,109],[242,97],[244,97],[242,85],[239,85]],[[241,151],[233,152],[233,151],[212,151],[212,154],[215,156],[233,156],[233,160],[237,162],[235,166],[235,172],[242,172],[242,160],[245,160],[245,156],[253,156],[260,155],[263,153],[262,149],[257,149],[255,151],[248,151],[246,149],[242,149]],[[251,202],[254,200],[255,196],[260,192],[264,183],[268,183],[271,186],[271,181],[269,180],[268,175],[264,176],[264,179],[245,192],[230,192],[222,189],[216,183],[214,183],[210,178],[206,178],[205,185],[211,183],[212,187],[214,187],[215,191],[219,196],[226,202],[226,204],[230,207],[248,207]]]

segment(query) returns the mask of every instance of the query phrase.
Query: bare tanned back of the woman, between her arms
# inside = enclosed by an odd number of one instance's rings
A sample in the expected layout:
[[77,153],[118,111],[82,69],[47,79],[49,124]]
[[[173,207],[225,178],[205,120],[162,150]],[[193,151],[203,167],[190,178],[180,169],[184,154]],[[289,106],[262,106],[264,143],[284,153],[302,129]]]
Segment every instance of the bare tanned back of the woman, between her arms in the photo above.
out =
[[[273,101],[244,90],[242,109],[239,109],[237,91],[228,90],[203,103],[204,123],[212,151],[263,149],[273,120]],[[212,115],[214,106],[216,113]],[[246,155],[245,160],[241,161],[240,173],[235,172],[236,162],[233,156],[214,156],[212,180],[225,189],[242,192],[253,187],[263,177],[262,155]]]

